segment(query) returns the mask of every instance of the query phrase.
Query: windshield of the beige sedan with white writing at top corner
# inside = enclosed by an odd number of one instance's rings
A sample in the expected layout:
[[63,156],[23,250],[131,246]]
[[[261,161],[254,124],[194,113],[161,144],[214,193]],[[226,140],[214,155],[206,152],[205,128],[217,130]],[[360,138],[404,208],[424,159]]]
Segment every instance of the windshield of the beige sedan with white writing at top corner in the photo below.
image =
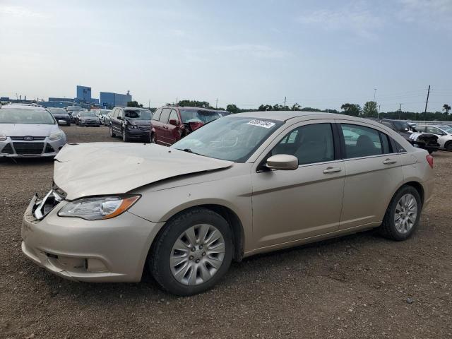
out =
[[197,129],[171,147],[178,150],[245,162],[283,121],[225,117]]

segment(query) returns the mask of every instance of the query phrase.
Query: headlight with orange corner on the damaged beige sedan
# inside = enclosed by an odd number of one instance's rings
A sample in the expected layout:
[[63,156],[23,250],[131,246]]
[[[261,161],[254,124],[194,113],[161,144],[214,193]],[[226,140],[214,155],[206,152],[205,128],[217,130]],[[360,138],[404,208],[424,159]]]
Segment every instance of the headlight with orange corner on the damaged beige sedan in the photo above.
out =
[[76,217],[85,220],[114,218],[131,208],[140,196],[100,196],[71,201],[61,208],[60,217]]

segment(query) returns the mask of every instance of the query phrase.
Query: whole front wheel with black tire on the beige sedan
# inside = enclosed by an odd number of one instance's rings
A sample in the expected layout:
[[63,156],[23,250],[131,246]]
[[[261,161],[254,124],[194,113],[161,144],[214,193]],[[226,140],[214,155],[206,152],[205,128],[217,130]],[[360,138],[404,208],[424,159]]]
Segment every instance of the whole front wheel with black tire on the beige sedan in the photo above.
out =
[[[187,245],[191,242],[185,235],[186,231],[191,230],[198,230],[198,235],[196,231],[191,232],[196,240],[195,251]],[[214,237],[219,237],[218,234],[221,236],[218,242],[212,241]],[[177,246],[176,242],[183,247],[183,251],[174,249],[173,246]],[[203,249],[203,246],[212,249],[214,253],[206,254],[206,248]],[[224,251],[215,254],[215,250]],[[212,210],[196,208],[167,222],[163,232],[155,239],[148,257],[148,266],[164,290],[179,296],[196,295],[212,288],[225,275],[232,261],[232,251],[232,232],[227,221]],[[172,265],[171,258],[175,262],[181,261],[179,266]],[[210,262],[218,267],[215,268]],[[182,274],[176,278],[179,272]]]

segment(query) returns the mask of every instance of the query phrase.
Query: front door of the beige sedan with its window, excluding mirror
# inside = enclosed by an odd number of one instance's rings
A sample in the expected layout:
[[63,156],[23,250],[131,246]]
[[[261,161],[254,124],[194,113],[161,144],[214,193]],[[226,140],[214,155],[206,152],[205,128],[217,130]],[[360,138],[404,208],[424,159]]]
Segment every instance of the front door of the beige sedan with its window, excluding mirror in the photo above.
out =
[[[275,246],[338,230],[345,169],[333,121],[297,124],[270,145],[268,154],[295,155],[295,170],[251,175],[256,247]],[[336,142],[337,143],[337,142]]]

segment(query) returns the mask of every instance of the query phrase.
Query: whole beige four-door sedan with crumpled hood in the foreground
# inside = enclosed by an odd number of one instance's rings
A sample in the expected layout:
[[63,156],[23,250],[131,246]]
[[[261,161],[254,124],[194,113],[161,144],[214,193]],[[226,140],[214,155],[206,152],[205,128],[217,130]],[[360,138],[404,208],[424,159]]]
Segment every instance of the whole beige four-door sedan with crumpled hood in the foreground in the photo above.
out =
[[22,250],[64,278],[193,295],[232,260],[379,227],[408,239],[432,197],[433,158],[374,121],[232,114],[167,148],[68,145],[32,198]]

